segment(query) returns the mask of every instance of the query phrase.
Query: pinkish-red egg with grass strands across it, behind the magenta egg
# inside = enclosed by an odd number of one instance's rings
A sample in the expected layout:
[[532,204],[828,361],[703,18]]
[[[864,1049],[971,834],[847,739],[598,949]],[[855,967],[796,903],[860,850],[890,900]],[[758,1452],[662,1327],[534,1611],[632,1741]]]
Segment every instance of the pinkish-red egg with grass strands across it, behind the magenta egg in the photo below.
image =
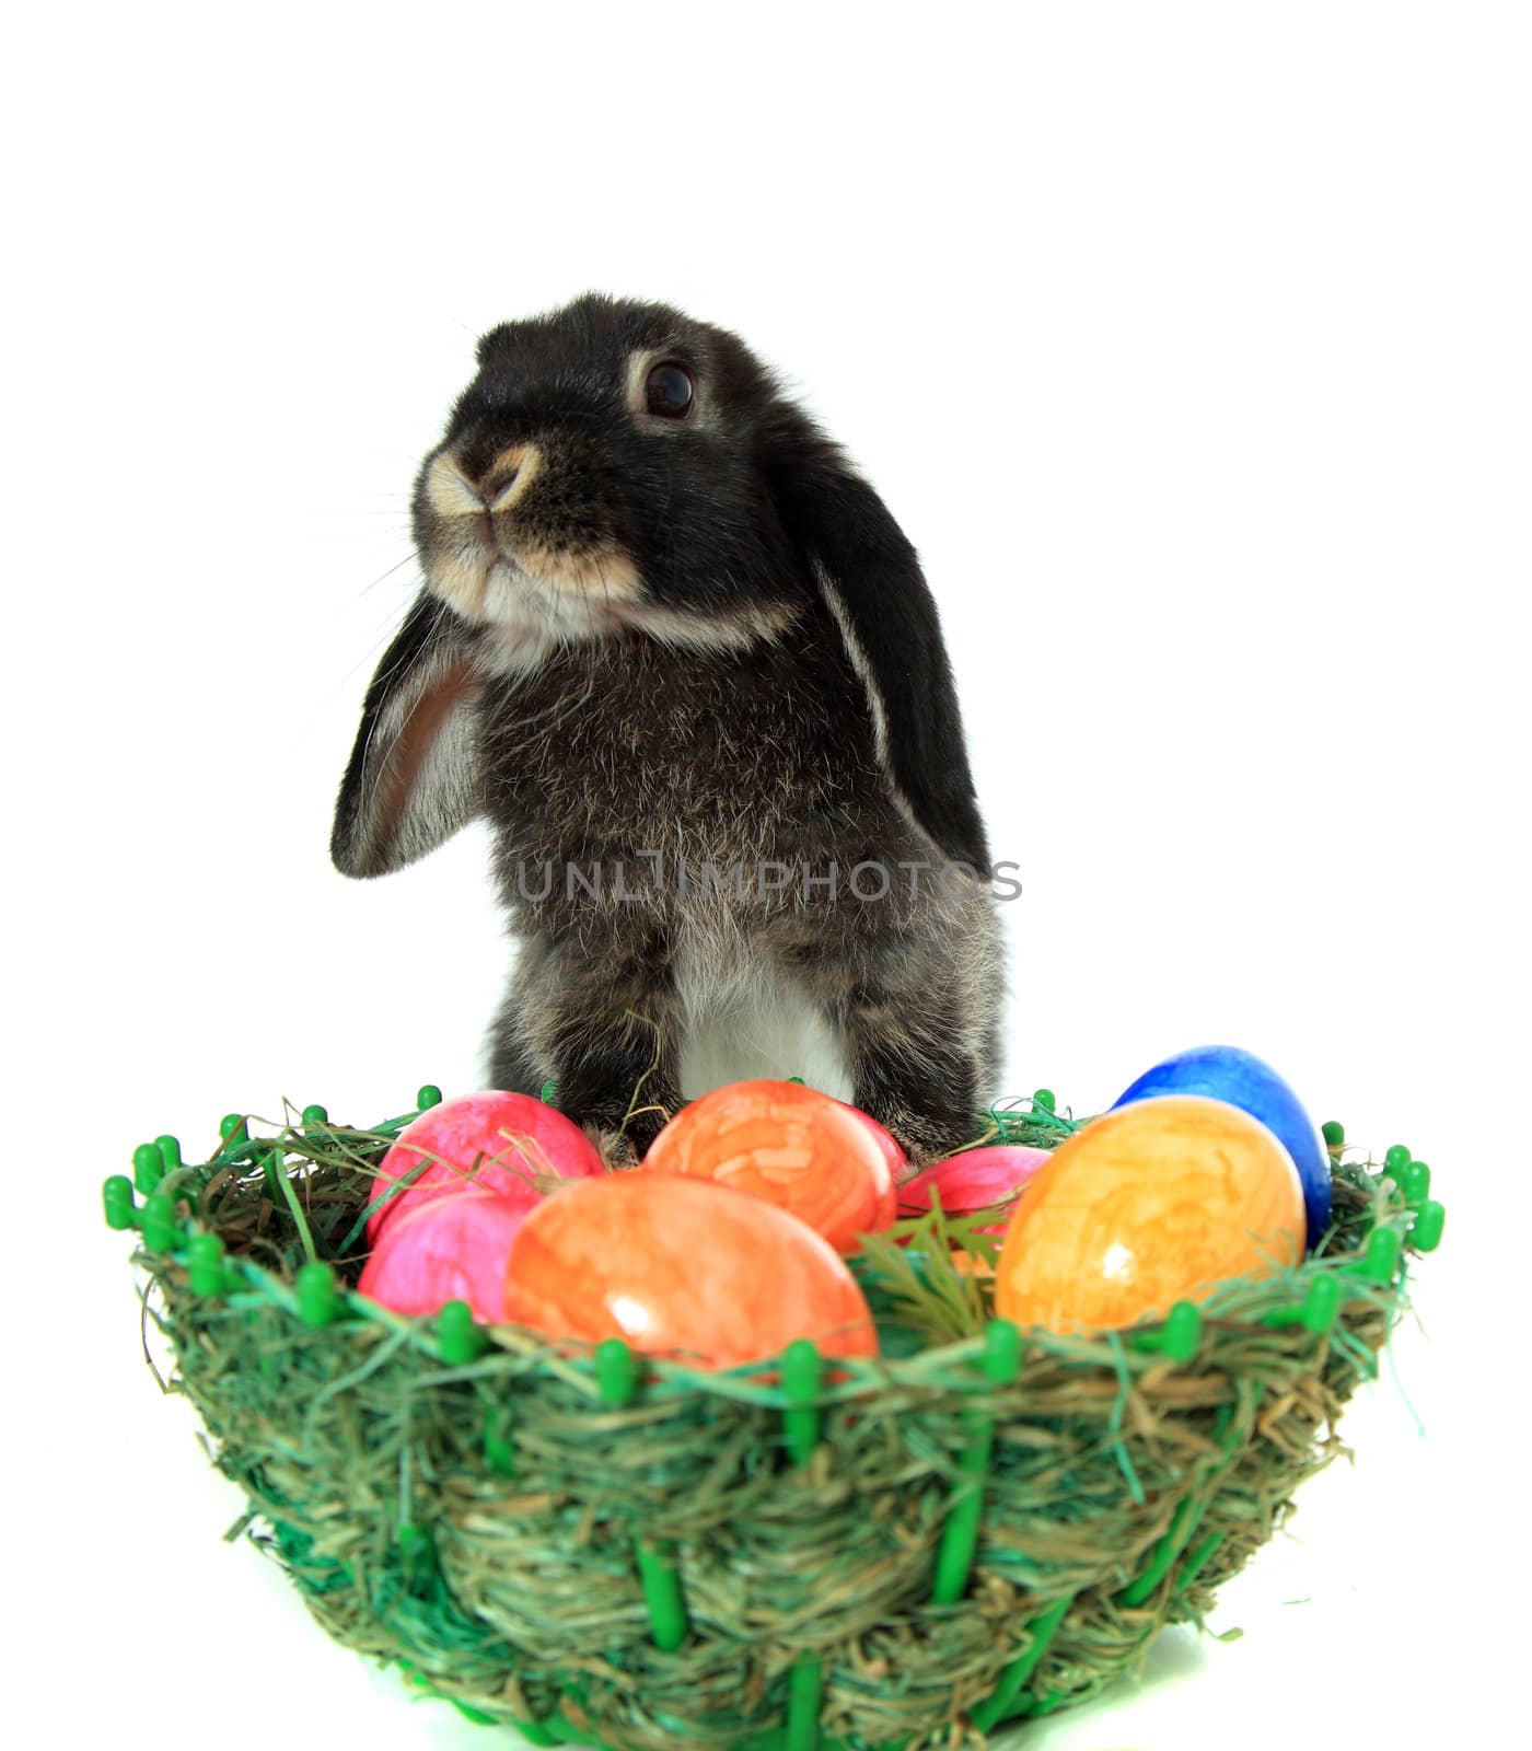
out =
[[539,1177],[604,1171],[580,1126],[531,1094],[460,1094],[411,1119],[383,1156],[368,1199],[368,1240],[376,1245],[404,1210],[443,1192],[478,1185],[531,1208]]

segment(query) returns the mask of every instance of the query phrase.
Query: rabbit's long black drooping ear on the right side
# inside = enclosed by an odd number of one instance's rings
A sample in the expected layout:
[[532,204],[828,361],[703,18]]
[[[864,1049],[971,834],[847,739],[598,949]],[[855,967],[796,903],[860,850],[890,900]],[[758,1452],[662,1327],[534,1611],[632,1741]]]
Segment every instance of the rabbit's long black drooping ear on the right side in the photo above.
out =
[[916,550],[840,450],[805,427],[777,452],[772,489],[867,688],[896,795],[949,858],[987,872],[952,669]]

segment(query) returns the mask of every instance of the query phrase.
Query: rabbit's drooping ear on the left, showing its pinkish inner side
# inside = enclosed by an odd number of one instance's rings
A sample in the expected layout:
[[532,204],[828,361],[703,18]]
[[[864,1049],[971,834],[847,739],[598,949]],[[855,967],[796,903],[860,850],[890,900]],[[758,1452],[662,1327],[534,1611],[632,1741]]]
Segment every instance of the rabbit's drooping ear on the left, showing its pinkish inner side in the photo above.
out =
[[329,854],[345,876],[387,876],[450,839],[483,807],[469,629],[418,595],[368,686],[334,805]]

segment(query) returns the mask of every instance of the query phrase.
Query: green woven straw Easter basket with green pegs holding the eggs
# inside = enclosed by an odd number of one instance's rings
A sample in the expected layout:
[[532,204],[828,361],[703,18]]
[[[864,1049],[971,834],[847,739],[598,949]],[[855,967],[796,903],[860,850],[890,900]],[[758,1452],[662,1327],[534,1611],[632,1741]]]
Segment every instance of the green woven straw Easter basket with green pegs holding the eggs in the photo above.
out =
[[[410,1117],[229,1119],[196,1166],[159,1138],[107,1220],[137,1231],[163,1383],[249,1497],[236,1530],[336,1641],[545,1746],[916,1751],[1093,1695],[1338,1452],[1443,1226],[1422,1163],[1350,1161],[1331,1126],[1334,1215],[1297,1268],[1103,1336],[989,1319],[702,1371],[357,1296]],[[984,1126],[1075,1129],[1042,1098]],[[940,1294],[940,1212],[905,1238],[907,1282],[858,1266],[881,1331]]]

